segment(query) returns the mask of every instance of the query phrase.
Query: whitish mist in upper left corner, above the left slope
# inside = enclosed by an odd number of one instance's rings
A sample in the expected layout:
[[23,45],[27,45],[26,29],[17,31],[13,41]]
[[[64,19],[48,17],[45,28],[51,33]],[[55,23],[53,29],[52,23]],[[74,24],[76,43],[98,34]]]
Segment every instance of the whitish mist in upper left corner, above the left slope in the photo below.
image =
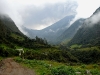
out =
[[0,0],[0,13],[9,15],[17,27],[22,30],[21,25],[23,24],[23,19],[15,3],[10,0]]

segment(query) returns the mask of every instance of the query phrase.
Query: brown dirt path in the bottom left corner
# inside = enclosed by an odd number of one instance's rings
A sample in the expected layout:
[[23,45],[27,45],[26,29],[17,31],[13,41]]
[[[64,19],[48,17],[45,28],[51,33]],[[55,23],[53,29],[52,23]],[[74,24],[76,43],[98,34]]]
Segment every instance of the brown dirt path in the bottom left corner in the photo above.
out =
[[7,58],[0,62],[0,75],[35,75],[35,73],[20,66],[12,58]]

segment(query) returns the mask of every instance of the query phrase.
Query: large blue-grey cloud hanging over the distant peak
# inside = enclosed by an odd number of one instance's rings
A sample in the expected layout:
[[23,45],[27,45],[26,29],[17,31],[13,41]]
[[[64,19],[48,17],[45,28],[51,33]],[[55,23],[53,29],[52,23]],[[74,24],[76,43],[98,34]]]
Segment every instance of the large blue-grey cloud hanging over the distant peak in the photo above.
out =
[[43,7],[29,6],[25,10],[27,18],[24,18],[24,25],[29,28],[38,28],[40,26],[49,26],[67,15],[75,15],[77,3],[56,3],[47,4]]

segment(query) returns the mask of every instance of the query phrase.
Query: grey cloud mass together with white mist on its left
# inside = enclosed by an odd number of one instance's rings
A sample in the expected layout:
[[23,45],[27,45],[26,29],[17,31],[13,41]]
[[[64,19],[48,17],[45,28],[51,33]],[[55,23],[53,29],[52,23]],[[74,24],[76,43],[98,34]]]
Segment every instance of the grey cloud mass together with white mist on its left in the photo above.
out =
[[45,28],[67,15],[76,14],[78,5],[73,0],[45,1],[48,3],[42,5],[38,1],[35,4],[35,0],[0,0],[0,13],[8,14],[21,31],[23,26]]

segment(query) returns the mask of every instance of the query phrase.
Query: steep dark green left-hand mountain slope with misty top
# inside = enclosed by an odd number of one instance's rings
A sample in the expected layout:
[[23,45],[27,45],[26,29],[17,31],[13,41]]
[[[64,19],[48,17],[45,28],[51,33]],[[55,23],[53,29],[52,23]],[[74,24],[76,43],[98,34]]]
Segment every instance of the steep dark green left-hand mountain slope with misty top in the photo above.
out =
[[14,46],[24,38],[25,35],[20,32],[13,20],[7,15],[0,14],[0,45]]

